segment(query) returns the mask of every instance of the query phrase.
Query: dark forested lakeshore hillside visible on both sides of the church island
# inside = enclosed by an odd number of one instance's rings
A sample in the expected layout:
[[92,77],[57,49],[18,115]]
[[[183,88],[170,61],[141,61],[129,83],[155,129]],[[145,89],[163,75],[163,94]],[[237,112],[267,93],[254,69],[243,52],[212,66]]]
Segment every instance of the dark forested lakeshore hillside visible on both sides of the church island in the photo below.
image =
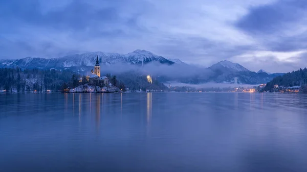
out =
[[[111,83],[118,88],[129,88],[131,91],[139,90],[165,90],[165,86],[155,78],[152,83],[147,82],[147,76],[140,73],[127,72],[112,76],[105,73]],[[61,91],[67,87],[75,88],[79,83],[81,75],[72,70],[42,70],[42,69],[20,69],[0,68],[0,90],[7,92],[53,92]]]

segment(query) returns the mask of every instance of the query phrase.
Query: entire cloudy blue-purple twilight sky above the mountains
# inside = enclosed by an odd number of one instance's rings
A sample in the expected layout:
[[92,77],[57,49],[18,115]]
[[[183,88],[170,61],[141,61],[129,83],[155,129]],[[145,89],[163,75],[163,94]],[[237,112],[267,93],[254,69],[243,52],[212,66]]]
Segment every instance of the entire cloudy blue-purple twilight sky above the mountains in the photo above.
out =
[[307,1],[0,1],[0,59],[136,49],[203,66],[307,67]]

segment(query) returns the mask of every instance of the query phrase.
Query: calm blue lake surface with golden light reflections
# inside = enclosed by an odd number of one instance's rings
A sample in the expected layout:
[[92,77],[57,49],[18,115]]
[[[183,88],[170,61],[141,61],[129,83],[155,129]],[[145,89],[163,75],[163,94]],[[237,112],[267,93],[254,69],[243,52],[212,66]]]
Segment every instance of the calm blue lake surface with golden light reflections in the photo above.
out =
[[0,171],[307,171],[307,95],[0,94]]

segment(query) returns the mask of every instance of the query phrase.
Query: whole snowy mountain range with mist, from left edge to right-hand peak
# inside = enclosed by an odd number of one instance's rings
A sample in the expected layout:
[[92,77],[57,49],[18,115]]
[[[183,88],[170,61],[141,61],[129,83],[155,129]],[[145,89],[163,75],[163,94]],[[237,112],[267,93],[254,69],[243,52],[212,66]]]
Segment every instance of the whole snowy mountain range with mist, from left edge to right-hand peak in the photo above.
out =
[[[49,59],[27,57],[19,60],[0,60],[0,68],[18,66],[20,68],[71,69],[85,73],[86,71],[90,71],[95,65],[97,56],[101,66],[112,66],[119,63],[143,66],[145,69],[142,71],[146,70],[147,73],[151,72],[152,75],[156,74],[162,82],[262,84],[271,81],[276,76],[282,75],[282,73],[269,74],[268,72],[260,71],[256,73],[238,63],[232,63],[227,60],[220,61],[208,68],[199,67],[183,63],[179,59],[166,59],[145,50],[136,50],[128,54],[92,52]],[[165,65],[146,65],[151,62]],[[102,68],[108,70],[107,67]],[[131,67],[127,68],[131,70]],[[124,70],[113,68],[113,71],[123,72]]]

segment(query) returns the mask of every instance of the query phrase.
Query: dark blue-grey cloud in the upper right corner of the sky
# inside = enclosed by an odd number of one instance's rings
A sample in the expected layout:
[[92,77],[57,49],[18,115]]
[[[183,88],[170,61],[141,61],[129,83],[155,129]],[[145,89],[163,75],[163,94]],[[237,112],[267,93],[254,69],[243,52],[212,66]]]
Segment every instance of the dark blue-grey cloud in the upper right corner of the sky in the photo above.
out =
[[281,0],[251,8],[236,27],[259,40],[270,51],[297,51],[306,47],[307,1]]

